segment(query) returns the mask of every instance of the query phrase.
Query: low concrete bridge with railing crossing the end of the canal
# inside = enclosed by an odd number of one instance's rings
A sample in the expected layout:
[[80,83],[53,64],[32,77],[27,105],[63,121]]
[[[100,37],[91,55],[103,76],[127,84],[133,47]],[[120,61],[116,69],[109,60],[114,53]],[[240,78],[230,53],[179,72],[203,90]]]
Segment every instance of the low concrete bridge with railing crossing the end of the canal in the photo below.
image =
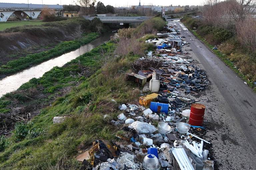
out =
[[[96,17],[84,17],[87,20],[92,20]],[[120,23],[120,25],[129,25],[132,23],[143,23],[152,17],[97,17],[103,23]]]

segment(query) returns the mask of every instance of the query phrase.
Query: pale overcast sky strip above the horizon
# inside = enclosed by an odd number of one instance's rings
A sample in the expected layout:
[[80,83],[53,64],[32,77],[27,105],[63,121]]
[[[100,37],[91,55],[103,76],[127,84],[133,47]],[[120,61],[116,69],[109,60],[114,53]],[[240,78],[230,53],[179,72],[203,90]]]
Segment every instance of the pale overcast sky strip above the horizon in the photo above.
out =
[[[75,2],[74,2],[75,1]],[[141,5],[202,5],[205,0],[182,0],[182,1],[156,1],[156,0],[141,0]],[[7,3],[28,3],[27,0],[0,0],[0,2]],[[77,0],[43,0],[43,4],[75,4]],[[98,2],[98,1],[97,1]],[[101,0],[104,5],[112,5],[114,7],[118,6],[130,6],[130,5],[138,5],[139,0]],[[42,0],[29,0],[29,3],[32,4],[42,4]]]

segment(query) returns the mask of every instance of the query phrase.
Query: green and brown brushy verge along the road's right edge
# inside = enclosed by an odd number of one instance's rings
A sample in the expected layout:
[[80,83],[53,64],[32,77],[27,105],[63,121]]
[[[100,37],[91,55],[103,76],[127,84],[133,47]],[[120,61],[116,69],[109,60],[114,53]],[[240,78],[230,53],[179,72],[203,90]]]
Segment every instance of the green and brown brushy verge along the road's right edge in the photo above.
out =
[[[222,28],[205,26],[200,20],[191,17],[184,17],[181,21],[210,49],[214,45],[218,46],[217,50],[212,51],[256,91],[256,54],[240,44],[234,33]],[[194,27],[197,28],[196,31],[193,30]]]

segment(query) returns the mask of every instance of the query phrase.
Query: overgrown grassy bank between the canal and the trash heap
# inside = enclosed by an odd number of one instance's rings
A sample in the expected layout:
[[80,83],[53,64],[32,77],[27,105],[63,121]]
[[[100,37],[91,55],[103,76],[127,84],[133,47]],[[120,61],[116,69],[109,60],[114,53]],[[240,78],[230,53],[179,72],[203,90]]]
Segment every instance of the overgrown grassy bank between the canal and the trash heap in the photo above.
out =
[[[141,56],[141,51],[152,48],[152,45],[145,43],[148,36],[136,40],[136,43],[133,38],[155,33],[165,24],[161,18],[152,20],[137,29],[119,31],[121,37],[118,42],[108,42],[94,48],[2,97],[1,107],[8,109],[15,102],[26,106],[42,102],[32,94],[35,91],[36,94],[43,92],[47,98],[50,94],[61,96],[51,106],[41,109],[40,114],[29,123],[16,124],[12,135],[1,140],[0,169],[79,169],[81,163],[75,160],[75,156],[80,150],[84,151],[96,139],[117,140],[115,135],[124,131],[114,128],[109,120],[116,120],[120,113],[118,104],[137,100],[140,94],[139,87],[125,81],[124,75],[132,71],[132,63]],[[151,24],[151,32],[149,29],[145,31],[146,26]],[[129,42],[123,46],[128,53],[115,56],[122,53],[122,41]],[[86,78],[86,75],[78,74],[83,70],[90,70],[91,73],[97,71]],[[75,87],[61,95],[63,87],[55,87],[63,84],[75,84]],[[110,118],[104,120],[104,114]],[[67,116],[67,119],[64,123],[53,125],[54,116]]]

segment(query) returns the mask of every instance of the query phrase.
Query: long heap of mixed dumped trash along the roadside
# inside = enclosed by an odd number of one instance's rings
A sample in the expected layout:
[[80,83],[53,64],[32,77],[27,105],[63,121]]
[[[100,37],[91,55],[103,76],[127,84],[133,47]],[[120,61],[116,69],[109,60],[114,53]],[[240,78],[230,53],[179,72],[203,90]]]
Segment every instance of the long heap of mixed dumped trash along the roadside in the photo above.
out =
[[81,169],[214,169],[206,149],[210,142],[200,137],[205,132],[205,106],[196,103],[200,100],[195,97],[207,88],[209,81],[189,52],[181,50],[187,42],[177,36],[177,27],[165,30],[167,33],[158,36],[167,35],[166,38],[147,41],[158,48],[137,61],[158,62],[161,66],[145,66],[137,73],[125,75],[127,81],[140,84],[144,94],[138,103],[121,104],[121,114],[110,121],[120,129],[116,135],[119,142],[93,142],[88,151],[76,158],[83,162]]

